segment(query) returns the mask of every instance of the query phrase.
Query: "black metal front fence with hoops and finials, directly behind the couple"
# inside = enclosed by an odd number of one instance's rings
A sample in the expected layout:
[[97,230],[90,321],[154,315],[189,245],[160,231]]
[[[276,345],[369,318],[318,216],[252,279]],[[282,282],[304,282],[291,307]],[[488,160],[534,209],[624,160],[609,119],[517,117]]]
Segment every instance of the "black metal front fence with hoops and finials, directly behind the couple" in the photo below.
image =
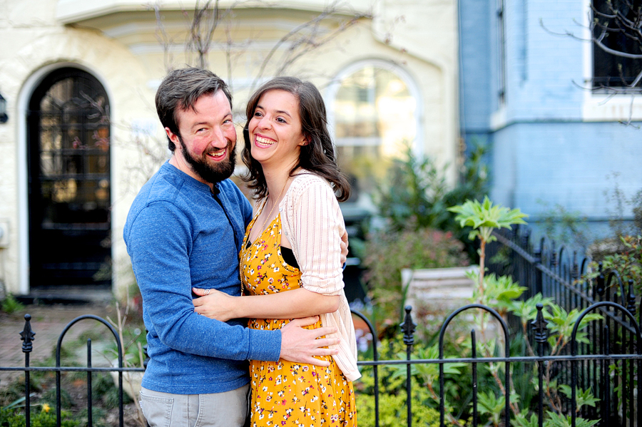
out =
[[[583,353],[581,351],[582,347],[579,346],[576,342],[576,334],[578,333],[579,322],[586,314],[591,312],[601,312],[604,309],[613,309],[616,312],[620,313],[624,319],[628,319],[628,327],[633,329],[636,336],[636,340],[631,346],[620,346],[618,347],[619,352],[613,353],[611,351],[610,343],[618,341],[618,339],[610,339],[608,337],[603,338],[603,342],[606,343],[603,346],[600,346],[598,349],[603,350],[598,353]],[[444,357],[444,339],[446,337],[446,332],[449,324],[460,315],[470,310],[480,310],[486,313],[489,313],[491,317],[494,317],[498,324],[500,325],[499,331],[497,331],[497,336],[501,337],[504,340],[504,354],[502,356],[493,356],[493,357],[479,357],[476,354],[475,349],[477,349],[476,344],[476,331],[473,329],[471,331],[471,343],[472,343],[472,354],[469,357],[457,357],[457,358],[445,358]],[[360,317],[367,327],[370,329],[372,334],[372,346],[373,346],[373,358],[368,361],[360,361],[360,366],[372,366],[372,373],[374,376],[374,402],[375,402],[375,414],[374,414],[374,426],[379,427],[379,366],[391,366],[391,365],[406,365],[407,375],[406,375],[406,393],[407,393],[407,426],[412,426],[412,381],[413,376],[411,374],[411,366],[413,364],[439,364],[439,416],[440,416],[440,426],[446,426],[446,405],[445,405],[445,381],[448,381],[444,375],[444,365],[453,364],[453,363],[463,363],[469,364],[472,366],[472,378],[468,379],[458,379],[457,381],[471,381],[471,386],[473,390],[472,396],[472,408],[471,416],[468,420],[469,426],[478,426],[481,425],[479,421],[479,408],[478,408],[478,389],[477,389],[477,368],[482,364],[504,364],[504,384],[511,384],[511,364],[529,364],[531,366],[537,366],[537,375],[538,375],[538,402],[536,413],[539,416],[540,423],[542,426],[542,420],[544,419],[544,410],[549,406],[547,402],[547,396],[545,393],[544,387],[544,371],[547,364],[565,364],[569,366],[570,376],[560,377],[559,381],[564,382],[564,384],[569,384],[571,390],[573,391],[573,396],[568,401],[566,406],[566,411],[569,416],[571,416],[571,426],[575,426],[576,416],[581,415],[587,419],[600,419],[599,425],[601,426],[642,426],[642,416],[638,411],[639,408],[642,408],[642,381],[638,381],[637,374],[642,372],[642,343],[641,335],[639,332],[638,322],[631,312],[626,309],[626,307],[616,304],[614,302],[597,302],[590,307],[584,309],[579,318],[576,321],[575,329],[571,336],[571,354],[559,354],[556,356],[547,356],[545,353],[546,341],[549,337],[547,330],[546,321],[542,315],[541,304],[538,307],[538,314],[536,321],[533,322],[534,330],[534,341],[537,344],[538,351],[535,356],[527,355],[511,355],[509,354],[509,349],[511,348],[511,334],[509,331],[509,326],[494,309],[486,307],[481,304],[469,304],[467,306],[461,307],[455,310],[452,314],[445,319],[444,324],[439,331],[439,358],[437,359],[411,359],[413,346],[415,342],[415,326],[414,320],[412,319],[412,309],[411,307],[406,307],[406,315],[404,322],[402,324],[403,332],[403,342],[406,346],[406,358],[399,360],[379,360],[377,356],[377,334],[374,331],[374,327],[371,322],[363,315],[358,312],[353,312],[355,316]],[[464,316],[465,319],[467,317]],[[25,366],[22,367],[0,367],[0,371],[24,371],[25,375],[25,418],[26,425],[30,425],[29,416],[30,416],[30,400],[31,396],[31,384],[29,381],[29,375],[34,371],[54,371],[56,373],[56,420],[57,425],[61,425],[61,381],[60,376],[62,372],[68,371],[82,371],[87,374],[87,399],[88,399],[88,426],[93,425],[93,420],[91,418],[91,406],[92,406],[92,391],[91,391],[91,376],[96,372],[105,372],[105,371],[116,371],[118,372],[118,425],[123,426],[123,372],[126,371],[143,371],[141,368],[125,368],[123,367],[123,356],[121,346],[118,345],[118,367],[93,367],[91,362],[91,340],[88,340],[87,344],[87,366],[61,366],[61,344],[64,336],[68,330],[76,324],[78,321],[84,319],[93,319],[98,321],[101,324],[104,324],[113,334],[116,343],[118,344],[118,334],[113,329],[113,327],[108,324],[107,321],[101,319],[100,317],[86,315],[81,316],[76,319],[73,319],[63,330],[61,335],[58,338],[58,345],[56,347],[56,366],[51,367],[33,367],[29,366],[29,354],[33,348],[34,341],[34,331],[31,329],[31,317],[29,314],[25,316],[25,325],[24,330],[20,333],[21,339],[24,341],[23,351],[25,354]],[[622,319],[618,319],[621,321]],[[609,334],[609,328],[606,324],[603,325],[603,334]],[[620,337],[621,339],[621,337]],[[593,349],[593,348],[591,348]],[[595,348],[597,349],[597,348]],[[623,351],[623,352],[622,352]],[[595,411],[592,413],[582,413],[581,411],[576,411],[576,396],[575,391],[576,387],[581,386],[583,377],[586,376],[586,362],[591,362],[596,364],[598,367],[598,379],[596,383],[593,384],[597,389],[601,391],[600,400],[596,404]],[[618,363],[628,363],[627,374],[621,374],[622,379],[628,379],[628,386],[624,389],[623,393],[620,393],[621,396],[626,400],[625,405],[618,403],[618,398],[614,390],[618,388],[618,376],[613,376],[613,364]],[[636,369],[633,369],[633,364],[635,364]],[[507,387],[509,389],[509,386]],[[634,391],[635,390],[635,391]],[[514,415],[514,411],[511,409],[511,396],[510,393],[505,393],[505,405],[503,410],[503,425],[511,425],[511,416]],[[358,408],[357,408],[358,411]]]

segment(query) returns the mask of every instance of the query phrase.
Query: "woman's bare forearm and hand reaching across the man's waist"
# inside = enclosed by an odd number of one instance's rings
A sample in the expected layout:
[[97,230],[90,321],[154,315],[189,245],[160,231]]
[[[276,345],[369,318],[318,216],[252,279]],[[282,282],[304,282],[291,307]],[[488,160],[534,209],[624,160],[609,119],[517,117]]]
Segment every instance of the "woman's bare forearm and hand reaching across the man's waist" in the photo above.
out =
[[298,319],[336,312],[338,295],[322,295],[304,288],[267,295],[232,297],[216,289],[192,288],[194,311],[210,319],[228,321],[241,317],[253,319]]

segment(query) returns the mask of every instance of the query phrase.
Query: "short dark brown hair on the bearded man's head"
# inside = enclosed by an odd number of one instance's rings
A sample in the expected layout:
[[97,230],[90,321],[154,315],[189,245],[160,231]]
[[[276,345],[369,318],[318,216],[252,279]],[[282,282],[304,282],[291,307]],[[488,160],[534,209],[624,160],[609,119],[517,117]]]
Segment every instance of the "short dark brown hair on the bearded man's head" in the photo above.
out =
[[[194,67],[170,71],[156,91],[156,112],[163,128],[169,128],[180,138],[176,114],[178,110],[195,111],[194,104],[198,98],[218,91],[225,93],[231,108],[232,95],[228,85],[212,71]],[[172,153],[176,149],[169,137],[168,147]]]

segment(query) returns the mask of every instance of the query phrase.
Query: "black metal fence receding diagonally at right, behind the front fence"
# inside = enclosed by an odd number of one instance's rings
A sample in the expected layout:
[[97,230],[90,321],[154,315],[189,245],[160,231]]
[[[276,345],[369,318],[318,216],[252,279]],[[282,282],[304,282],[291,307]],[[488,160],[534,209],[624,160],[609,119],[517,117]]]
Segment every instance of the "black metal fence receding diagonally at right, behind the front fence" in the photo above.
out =
[[[566,312],[597,308],[603,319],[588,324],[588,342],[576,343],[577,351],[581,354],[609,354],[612,351],[634,354],[638,351],[636,325],[642,324],[642,310],[637,307],[639,297],[632,279],[626,280],[613,269],[605,271],[601,263],[591,262],[590,258],[581,257],[564,246],[556,247],[555,242],[546,237],[533,245],[528,227],[494,232],[494,236],[498,244],[488,248],[488,257],[503,250],[508,252],[508,262],[490,264],[489,270],[496,274],[511,274],[527,288],[524,298],[539,293],[551,298]],[[601,304],[604,302],[613,304]],[[637,322],[633,321],[636,315]],[[567,347],[564,354],[569,355],[572,351]],[[597,359],[586,360],[580,368],[584,374],[579,377],[578,385],[584,389],[591,387],[601,401],[613,400],[613,404],[625,413],[637,404],[633,387],[637,377],[632,359],[616,360],[611,365]],[[612,386],[617,392],[609,389],[608,381],[601,381],[608,370],[616,373],[612,374]],[[571,369],[564,369],[561,381],[569,381],[570,372]],[[584,408],[583,415],[597,418],[598,408]]]

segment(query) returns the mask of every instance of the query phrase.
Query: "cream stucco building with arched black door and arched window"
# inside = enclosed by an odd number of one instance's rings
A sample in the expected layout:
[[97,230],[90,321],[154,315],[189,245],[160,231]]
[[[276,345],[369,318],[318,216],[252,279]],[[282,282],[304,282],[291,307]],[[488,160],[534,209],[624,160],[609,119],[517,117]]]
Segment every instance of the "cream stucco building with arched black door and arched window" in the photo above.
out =
[[[195,64],[185,42],[195,3],[0,1],[6,291],[74,285],[118,293],[131,284],[123,225],[136,191],[168,156],[153,98],[168,67]],[[354,203],[367,209],[374,178],[404,140],[440,164],[457,163],[457,4],[351,0],[305,25],[328,6],[220,1],[223,19],[205,60],[230,83],[238,122],[256,83],[276,73],[315,83],[342,168],[361,190]],[[322,42],[300,44],[310,39]]]

